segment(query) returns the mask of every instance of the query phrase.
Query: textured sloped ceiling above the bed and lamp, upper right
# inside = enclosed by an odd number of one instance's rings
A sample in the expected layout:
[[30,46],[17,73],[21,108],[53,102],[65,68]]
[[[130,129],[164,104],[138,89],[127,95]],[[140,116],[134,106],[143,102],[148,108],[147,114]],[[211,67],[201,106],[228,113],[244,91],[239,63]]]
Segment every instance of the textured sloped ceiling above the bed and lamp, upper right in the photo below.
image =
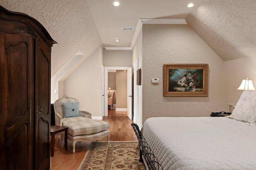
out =
[[253,57],[255,9],[255,0],[212,0],[200,4],[186,22],[223,61]]

